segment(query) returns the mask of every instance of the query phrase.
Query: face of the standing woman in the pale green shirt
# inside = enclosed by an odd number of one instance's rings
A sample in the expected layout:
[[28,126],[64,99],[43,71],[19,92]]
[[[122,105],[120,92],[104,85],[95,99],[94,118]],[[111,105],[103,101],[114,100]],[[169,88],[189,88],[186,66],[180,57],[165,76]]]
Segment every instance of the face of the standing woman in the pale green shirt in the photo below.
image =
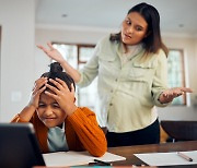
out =
[[138,13],[129,13],[121,24],[121,40],[126,45],[137,45],[147,36],[148,23]]

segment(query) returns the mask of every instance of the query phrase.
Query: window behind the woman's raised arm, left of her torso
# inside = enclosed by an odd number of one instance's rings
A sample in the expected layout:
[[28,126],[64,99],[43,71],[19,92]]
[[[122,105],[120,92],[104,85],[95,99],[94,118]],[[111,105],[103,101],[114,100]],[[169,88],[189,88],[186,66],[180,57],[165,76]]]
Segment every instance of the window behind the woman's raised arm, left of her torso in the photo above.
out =
[[[65,59],[74,68],[81,69],[94,51],[93,45],[66,45],[54,43],[53,46],[60,51]],[[95,111],[97,98],[97,79],[88,87],[77,87],[78,105],[85,106]]]

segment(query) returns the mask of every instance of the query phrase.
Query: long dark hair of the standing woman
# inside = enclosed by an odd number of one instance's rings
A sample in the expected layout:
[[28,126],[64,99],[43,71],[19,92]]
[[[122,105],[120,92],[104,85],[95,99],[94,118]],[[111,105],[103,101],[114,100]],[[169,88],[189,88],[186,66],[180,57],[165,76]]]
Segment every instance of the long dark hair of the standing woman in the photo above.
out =
[[[167,48],[162,43],[161,39],[161,32],[160,32],[160,14],[158,10],[144,2],[139,3],[132,7],[127,14],[131,12],[138,12],[148,23],[148,36],[142,39],[146,51],[157,53],[159,49],[163,49],[167,56]],[[111,41],[120,41],[121,40],[121,33],[112,34]]]

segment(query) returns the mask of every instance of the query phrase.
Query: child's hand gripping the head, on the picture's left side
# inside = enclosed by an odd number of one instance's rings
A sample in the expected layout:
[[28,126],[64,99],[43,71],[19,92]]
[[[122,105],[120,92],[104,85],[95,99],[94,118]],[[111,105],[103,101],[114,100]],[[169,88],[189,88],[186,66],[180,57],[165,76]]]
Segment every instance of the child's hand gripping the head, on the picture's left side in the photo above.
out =
[[40,77],[35,81],[28,106],[33,106],[35,109],[38,107],[39,95],[46,89],[46,83],[47,77]]

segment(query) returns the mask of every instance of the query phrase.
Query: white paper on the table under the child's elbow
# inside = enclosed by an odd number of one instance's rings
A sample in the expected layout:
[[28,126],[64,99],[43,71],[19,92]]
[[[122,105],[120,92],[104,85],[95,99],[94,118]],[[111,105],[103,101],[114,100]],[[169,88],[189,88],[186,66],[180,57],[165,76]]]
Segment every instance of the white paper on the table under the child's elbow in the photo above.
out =
[[43,154],[46,166],[78,166],[94,163],[94,158],[103,161],[126,160],[125,157],[112,153],[105,153],[102,157],[93,157],[88,152],[58,152]]

